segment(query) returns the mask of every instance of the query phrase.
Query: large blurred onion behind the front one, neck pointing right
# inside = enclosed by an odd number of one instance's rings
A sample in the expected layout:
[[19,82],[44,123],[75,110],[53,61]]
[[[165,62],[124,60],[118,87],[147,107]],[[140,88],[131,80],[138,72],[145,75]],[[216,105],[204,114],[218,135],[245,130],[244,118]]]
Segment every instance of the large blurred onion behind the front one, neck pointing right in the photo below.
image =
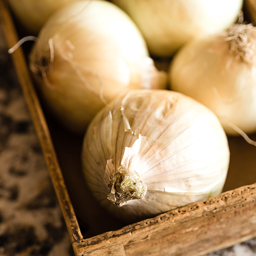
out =
[[137,26],[102,0],[55,12],[32,49],[30,67],[50,112],[80,133],[122,90],[166,87],[166,73],[155,68]]

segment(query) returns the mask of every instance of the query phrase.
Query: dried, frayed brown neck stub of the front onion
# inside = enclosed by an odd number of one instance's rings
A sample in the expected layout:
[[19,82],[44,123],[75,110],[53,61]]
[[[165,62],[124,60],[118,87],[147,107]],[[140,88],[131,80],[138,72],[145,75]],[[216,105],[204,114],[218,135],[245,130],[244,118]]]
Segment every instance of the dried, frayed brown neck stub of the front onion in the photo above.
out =
[[129,200],[145,199],[147,189],[137,172],[124,170],[122,166],[118,170],[119,172],[112,174],[108,184],[108,200],[122,206]]

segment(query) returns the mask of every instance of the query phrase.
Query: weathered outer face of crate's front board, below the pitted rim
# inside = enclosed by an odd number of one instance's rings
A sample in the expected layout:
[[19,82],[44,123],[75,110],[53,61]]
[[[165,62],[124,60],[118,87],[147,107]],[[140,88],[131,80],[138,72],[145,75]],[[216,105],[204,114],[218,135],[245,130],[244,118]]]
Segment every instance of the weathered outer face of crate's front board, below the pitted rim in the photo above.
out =
[[125,245],[126,255],[199,256],[247,240],[256,234],[255,212],[250,210],[255,205],[241,208],[192,218],[141,239],[139,244],[130,242]]

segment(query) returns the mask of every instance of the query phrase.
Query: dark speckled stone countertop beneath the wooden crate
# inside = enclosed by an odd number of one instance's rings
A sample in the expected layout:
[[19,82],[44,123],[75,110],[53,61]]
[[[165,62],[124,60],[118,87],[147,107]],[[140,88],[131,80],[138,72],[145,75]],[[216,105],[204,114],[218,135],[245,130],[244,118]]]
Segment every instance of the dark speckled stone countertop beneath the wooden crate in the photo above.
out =
[[[0,256],[73,250],[0,24]],[[256,256],[256,239],[208,256]]]

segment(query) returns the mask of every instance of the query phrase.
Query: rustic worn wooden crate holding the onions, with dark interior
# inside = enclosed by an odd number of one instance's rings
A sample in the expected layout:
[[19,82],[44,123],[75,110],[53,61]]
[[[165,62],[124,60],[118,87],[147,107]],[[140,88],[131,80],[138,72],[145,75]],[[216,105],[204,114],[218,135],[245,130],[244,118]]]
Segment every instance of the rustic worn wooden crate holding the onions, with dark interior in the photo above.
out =
[[[254,17],[252,3],[247,0],[246,6]],[[3,0],[0,22],[12,47],[18,36]],[[228,138],[230,170],[221,195],[125,226],[90,196],[81,172],[82,138],[44,113],[22,49],[12,58],[76,256],[202,256],[256,236],[256,147],[241,137]]]

